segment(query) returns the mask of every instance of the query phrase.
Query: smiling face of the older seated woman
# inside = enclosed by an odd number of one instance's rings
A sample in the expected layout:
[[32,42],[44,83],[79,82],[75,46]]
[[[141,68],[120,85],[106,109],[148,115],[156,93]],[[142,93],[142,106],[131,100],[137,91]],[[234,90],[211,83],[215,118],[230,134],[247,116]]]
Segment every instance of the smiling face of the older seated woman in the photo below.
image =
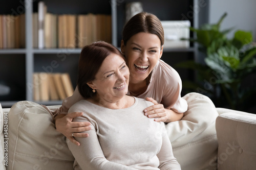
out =
[[120,99],[128,91],[129,76],[129,68],[124,59],[117,54],[110,54],[103,61],[92,83],[100,98]]

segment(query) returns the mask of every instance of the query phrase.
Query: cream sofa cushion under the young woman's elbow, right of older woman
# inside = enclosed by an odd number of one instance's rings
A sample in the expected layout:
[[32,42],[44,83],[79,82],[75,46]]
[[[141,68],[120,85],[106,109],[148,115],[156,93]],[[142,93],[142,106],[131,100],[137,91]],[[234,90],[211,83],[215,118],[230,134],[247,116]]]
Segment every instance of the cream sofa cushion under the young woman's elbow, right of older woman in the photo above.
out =
[[182,170],[217,168],[218,141],[215,105],[205,95],[188,93],[183,96],[188,110],[181,121],[165,125],[174,156]]

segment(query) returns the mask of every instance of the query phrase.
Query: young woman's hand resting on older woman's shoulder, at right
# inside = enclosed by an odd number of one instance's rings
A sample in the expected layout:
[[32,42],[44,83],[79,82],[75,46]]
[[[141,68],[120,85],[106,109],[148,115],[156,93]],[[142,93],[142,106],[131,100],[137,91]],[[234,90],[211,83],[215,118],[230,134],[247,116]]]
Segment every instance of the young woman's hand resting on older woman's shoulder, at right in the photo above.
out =
[[152,102],[154,105],[144,109],[145,116],[155,118],[156,122],[174,122],[180,120],[184,113],[177,113],[171,109],[165,109],[162,104],[157,103],[153,98],[146,98],[147,101]]

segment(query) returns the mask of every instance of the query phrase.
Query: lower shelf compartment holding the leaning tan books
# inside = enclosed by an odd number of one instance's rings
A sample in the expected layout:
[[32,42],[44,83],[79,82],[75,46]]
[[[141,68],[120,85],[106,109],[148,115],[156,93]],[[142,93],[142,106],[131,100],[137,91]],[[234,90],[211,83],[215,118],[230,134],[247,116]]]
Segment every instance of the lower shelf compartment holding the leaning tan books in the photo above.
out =
[[36,103],[60,104],[58,100],[73,94],[78,59],[78,54],[35,54],[33,96]]

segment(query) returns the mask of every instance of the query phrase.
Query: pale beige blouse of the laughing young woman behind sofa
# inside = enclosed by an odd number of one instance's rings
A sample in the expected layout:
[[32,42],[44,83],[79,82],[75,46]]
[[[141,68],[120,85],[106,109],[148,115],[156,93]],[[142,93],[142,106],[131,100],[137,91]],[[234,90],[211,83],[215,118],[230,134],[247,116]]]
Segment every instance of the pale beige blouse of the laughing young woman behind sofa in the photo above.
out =
[[[182,83],[178,72],[164,61],[159,60],[153,69],[150,84],[146,91],[137,98],[151,97],[158,103],[163,104],[164,108],[184,113],[187,110],[187,102],[181,98],[181,89]],[[130,92],[127,94],[130,95]],[[82,99],[76,87],[73,95],[63,100],[62,106],[53,114],[67,114],[69,108]]]

